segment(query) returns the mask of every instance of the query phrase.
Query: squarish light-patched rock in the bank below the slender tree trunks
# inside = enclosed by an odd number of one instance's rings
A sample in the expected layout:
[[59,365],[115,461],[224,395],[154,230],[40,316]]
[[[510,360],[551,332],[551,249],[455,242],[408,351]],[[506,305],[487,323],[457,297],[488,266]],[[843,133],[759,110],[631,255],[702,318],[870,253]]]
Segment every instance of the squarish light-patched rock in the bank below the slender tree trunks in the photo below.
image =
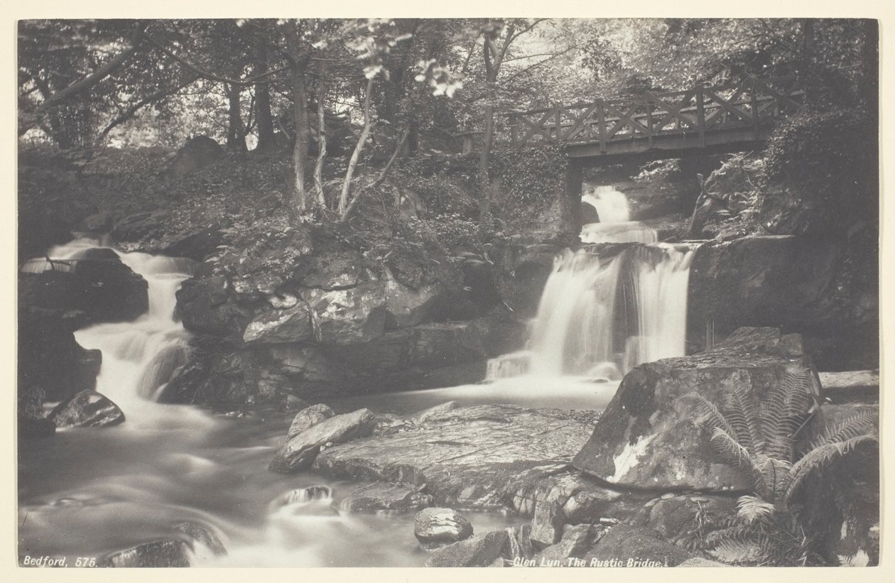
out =
[[311,307],[314,340],[320,344],[370,342],[385,332],[385,286],[361,283],[345,290],[303,291]]

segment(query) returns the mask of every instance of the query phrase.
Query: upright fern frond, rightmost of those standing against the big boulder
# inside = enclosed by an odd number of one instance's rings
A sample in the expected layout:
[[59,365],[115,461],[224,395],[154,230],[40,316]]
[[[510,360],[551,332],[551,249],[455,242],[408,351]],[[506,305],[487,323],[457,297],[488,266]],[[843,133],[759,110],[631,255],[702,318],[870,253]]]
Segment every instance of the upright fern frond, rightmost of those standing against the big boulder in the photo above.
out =
[[796,434],[812,409],[812,382],[808,370],[787,373],[765,396],[764,453],[771,458],[792,460]]

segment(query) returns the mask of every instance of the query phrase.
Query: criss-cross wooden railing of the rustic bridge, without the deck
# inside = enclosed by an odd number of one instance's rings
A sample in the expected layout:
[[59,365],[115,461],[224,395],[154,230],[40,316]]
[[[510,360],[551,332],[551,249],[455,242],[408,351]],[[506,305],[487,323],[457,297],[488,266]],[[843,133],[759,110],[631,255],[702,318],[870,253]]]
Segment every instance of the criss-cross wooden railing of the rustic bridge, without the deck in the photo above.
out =
[[734,128],[752,128],[758,139],[772,120],[804,106],[805,92],[794,84],[789,78],[749,78],[736,85],[557,104],[510,114],[510,141],[516,148],[542,142],[599,143],[606,152],[612,142],[644,140],[652,148],[653,139],[675,134],[693,134],[699,139],[694,146],[704,146],[706,133]]

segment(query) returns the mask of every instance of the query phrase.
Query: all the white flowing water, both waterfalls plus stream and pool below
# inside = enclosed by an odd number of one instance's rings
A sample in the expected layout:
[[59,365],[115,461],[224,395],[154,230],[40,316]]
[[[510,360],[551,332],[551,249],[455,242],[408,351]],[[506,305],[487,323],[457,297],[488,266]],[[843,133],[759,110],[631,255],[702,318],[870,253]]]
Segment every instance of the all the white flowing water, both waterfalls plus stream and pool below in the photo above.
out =
[[[620,194],[591,195],[604,223],[585,225],[583,239],[654,243],[655,232],[628,220]],[[95,246],[101,241],[72,241],[47,252],[62,263],[36,258],[22,270],[68,270]],[[52,555],[74,564],[154,538],[182,538],[174,525],[191,520],[215,532],[228,551],[216,557],[197,545],[198,566],[422,565],[428,554],[413,537],[413,512],[334,513],[354,485],[310,471],[268,471],[292,413],[256,408],[231,416],[154,401],[188,358],[190,334],[174,310],[192,263],[119,255],[149,282],[149,311],[133,322],[90,326],[76,338],[102,351],[97,390],[127,420],[20,440],[20,558]],[[338,412],[369,407],[399,415],[450,400],[601,410],[623,371],[683,354],[691,256],[686,247],[663,244],[607,257],[593,247],[567,252],[543,291],[529,349],[492,360],[489,383],[328,404]],[[525,521],[499,512],[466,515],[480,533]]]

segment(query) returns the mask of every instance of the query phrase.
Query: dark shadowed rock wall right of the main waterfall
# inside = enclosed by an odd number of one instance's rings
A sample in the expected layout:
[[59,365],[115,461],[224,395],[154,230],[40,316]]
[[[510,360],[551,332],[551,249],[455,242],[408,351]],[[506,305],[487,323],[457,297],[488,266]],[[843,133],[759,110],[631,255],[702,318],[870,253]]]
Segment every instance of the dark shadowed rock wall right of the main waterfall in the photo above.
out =
[[793,235],[705,243],[690,270],[690,342],[703,346],[707,325],[718,338],[772,325],[803,334],[828,370],[875,368],[877,280],[875,263],[864,266],[871,253],[857,243]]

